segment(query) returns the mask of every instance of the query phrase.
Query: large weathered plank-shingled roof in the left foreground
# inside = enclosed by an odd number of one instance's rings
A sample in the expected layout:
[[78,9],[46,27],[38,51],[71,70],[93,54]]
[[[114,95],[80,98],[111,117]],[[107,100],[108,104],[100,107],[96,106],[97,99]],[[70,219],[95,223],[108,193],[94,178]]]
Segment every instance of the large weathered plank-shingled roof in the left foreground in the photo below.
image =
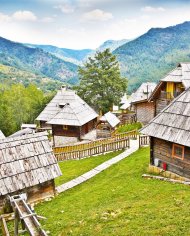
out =
[[61,175],[47,133],[0,141],[0,196]]

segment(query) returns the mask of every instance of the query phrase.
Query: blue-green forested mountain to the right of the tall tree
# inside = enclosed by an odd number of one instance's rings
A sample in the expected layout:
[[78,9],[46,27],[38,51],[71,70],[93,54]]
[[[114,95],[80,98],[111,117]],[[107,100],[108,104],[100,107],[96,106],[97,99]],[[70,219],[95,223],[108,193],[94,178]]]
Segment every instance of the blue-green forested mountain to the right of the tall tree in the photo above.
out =
[[132,92],[144,81],[158,81],[178,62],[190,61],[190,22],[152,28],[113,53]]

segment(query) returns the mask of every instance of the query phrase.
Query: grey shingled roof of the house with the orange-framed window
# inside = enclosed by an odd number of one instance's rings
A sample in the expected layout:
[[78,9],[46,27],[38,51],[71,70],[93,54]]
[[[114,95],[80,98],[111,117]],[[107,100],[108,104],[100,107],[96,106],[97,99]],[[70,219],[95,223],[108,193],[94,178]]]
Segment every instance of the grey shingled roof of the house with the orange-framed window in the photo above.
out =
[[190,88],[174,99],[141,132],[190,147]]

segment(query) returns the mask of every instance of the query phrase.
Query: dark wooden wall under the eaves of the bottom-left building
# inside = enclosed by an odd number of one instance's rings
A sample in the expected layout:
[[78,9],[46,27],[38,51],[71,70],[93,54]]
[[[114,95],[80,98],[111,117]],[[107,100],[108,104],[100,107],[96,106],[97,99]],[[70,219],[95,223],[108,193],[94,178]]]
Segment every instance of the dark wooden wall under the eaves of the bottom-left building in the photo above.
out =
[[[31,188],[23,189],[18,192],[14,192],[9,195],[17,195],[21,193],[27,193],[28,199],[27,201],[29,203],[35,203],[42,201],[45,198],[53,197],[55,194],[55,184],[54,180],[47,181],[45,183],[41,183],[39,185],[33,186]],[[7,198],[7,195],[0,197],[0,212],[3,209],[5,199]]]

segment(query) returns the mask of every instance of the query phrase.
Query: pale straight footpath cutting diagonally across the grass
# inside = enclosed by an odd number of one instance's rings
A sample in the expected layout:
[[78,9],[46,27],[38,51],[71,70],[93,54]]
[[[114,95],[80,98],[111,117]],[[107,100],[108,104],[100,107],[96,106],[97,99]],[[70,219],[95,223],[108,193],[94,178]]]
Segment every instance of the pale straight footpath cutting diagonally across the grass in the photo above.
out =
[[100,172],[102,172],[103,170],[109,168],[110,166],[114,165],[115,163],[123,160],[124,158],[126,158],[127,156],[129,156],[130,154],[132,154],[133,152],[137,151],[139,149],[139,141],[137,140],[130,140],[130,148],[126,149],[123,153],[119,154],[116,157],[113,157],[112,159],[102,163],[99,166],[96,166],[94,169],[86,172],[85,174],[65,183],[62,184],[58,187],[56,187],[56,190],[58,193],[62,193],[68,189],[71,189],[85,181],[87,181],[88,179],[91,179],[92,177],[94,177],[95,175],[99,174]]

